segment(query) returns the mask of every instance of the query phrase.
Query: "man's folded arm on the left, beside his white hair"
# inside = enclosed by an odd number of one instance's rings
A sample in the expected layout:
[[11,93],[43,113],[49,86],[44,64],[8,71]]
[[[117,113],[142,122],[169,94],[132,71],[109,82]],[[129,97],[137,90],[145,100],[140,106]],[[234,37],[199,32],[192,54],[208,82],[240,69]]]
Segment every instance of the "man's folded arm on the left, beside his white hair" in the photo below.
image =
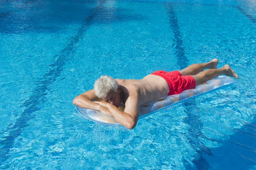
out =
[[76,98],[73,100],[73,104],[87,109],[99,110],[105,114],[111,115],[107,108],[92,102],[98,99],[99,98],[95,95],[94,89],[91,89],[79,96],[76,96]]

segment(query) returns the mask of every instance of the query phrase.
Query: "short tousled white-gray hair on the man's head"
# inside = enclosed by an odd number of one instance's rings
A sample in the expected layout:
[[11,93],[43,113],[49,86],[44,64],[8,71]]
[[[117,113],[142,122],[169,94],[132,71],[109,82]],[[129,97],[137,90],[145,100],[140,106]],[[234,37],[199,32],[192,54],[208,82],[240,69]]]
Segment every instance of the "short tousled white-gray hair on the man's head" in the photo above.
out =
[[105,98],[111,90],[117,92],[117,89],[117,81],[108,75],[102,75],[94,84],[95,95],[98,98]]

